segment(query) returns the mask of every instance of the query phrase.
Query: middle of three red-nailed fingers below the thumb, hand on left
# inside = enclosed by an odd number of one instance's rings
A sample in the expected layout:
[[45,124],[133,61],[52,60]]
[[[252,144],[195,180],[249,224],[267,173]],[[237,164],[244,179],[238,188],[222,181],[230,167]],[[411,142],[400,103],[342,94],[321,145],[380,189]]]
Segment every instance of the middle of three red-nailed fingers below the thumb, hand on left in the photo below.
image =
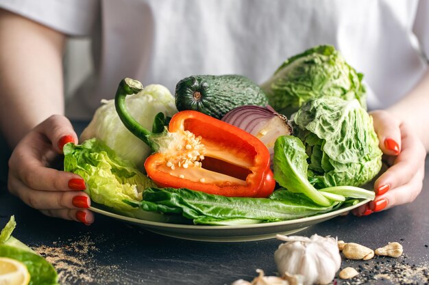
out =
[[19,180],[10,181],[12,193],[25,204],[38,210],[61,208],[89,208],[90,198],[84,192],[76,191],[39,191],[30,189]]

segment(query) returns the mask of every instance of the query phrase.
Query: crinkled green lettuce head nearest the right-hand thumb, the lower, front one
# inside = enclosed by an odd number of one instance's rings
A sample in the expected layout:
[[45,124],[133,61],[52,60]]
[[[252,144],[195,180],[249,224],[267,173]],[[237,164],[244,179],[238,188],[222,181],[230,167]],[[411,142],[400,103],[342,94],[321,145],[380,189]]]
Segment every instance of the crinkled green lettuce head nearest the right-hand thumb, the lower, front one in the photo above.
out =
[[293,120],[309,157],[308,180],[317,189],[361,186],[380,172],[382,151],[372,118],[357,100],[313,99]]

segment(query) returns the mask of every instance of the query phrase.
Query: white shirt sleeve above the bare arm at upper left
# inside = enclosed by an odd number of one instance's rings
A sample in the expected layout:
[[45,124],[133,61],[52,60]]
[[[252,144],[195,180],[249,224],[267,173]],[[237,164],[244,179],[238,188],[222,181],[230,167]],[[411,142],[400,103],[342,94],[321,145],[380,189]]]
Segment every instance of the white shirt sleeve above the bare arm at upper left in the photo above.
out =
[[1,0],[0,8],[70,36],[88,36],[99,16],[99,0]]

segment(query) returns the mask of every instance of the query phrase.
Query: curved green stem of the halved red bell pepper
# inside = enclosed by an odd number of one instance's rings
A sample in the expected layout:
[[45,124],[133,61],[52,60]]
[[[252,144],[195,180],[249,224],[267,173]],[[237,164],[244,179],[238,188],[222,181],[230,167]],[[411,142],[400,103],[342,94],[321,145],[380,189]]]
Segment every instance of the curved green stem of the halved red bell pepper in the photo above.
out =
[[154,136],[155,134],[134,120],[130,113],[128,113],[127,106],[125,105],[125,97],[127,95],[136,94],[141,90],[143,90],[143,85],[140,83],[140,81],[130,78],[122,79],[119,83],[117,94],[114,97],[114,107],[116,108],[119,118],[125,127],[136,137],[141,139],[145,144],[150,146],[152,151],[156,152],[159,146],[150,139],[150,137]]

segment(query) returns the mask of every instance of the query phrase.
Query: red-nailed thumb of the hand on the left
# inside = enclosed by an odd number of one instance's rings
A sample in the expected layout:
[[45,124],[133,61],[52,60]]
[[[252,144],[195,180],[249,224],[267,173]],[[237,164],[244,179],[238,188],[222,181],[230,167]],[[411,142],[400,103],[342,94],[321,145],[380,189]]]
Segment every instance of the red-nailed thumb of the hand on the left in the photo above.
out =
[[37,131],[46,135],[54,150],[62,153],[62,148],[69,142],[77,143],[77,135],[69,119],[61,115],[53,115],[37,126]]

